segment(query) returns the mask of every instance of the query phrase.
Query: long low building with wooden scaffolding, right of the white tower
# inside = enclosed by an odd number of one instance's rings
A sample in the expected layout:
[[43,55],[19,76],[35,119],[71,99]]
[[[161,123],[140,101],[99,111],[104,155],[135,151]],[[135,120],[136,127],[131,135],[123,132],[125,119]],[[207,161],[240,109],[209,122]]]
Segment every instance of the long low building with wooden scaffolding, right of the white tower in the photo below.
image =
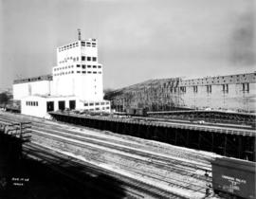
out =
[[149,111],[214,109],[255,112],[256,72],[184,80],[150,80],[106,94],[118,111],[147,108]]

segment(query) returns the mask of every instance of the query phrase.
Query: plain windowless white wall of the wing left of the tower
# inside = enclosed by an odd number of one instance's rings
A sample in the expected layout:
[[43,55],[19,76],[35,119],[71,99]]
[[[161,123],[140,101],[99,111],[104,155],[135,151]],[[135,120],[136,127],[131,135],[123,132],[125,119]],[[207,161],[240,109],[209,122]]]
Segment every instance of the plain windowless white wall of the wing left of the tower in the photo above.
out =
[[14,83],[12,89],[13,99],[15,100],[20,100],[31,95],[49,95],[51,93],[51,81]]

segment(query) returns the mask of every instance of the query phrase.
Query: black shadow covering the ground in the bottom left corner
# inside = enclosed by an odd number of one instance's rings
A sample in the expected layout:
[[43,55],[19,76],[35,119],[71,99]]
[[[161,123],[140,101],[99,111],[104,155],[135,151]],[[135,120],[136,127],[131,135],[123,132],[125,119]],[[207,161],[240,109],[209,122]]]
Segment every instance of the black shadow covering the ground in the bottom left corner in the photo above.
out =
[[9,151],[10,145],[1,140],[0,144],[0,199],[121,199],[126,195],[122,183],[112,176],[92,174],[86,166],[21,159],[17,150]]

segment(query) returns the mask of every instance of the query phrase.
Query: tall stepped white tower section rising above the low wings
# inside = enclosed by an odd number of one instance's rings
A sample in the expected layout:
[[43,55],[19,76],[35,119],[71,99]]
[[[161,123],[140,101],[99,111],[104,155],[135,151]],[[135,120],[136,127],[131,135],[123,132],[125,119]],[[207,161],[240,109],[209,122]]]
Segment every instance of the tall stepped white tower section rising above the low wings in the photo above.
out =
[[102,64],[98,63],[96,39],[79,40],[57,48],[52,69],[53,95],[102,100]]

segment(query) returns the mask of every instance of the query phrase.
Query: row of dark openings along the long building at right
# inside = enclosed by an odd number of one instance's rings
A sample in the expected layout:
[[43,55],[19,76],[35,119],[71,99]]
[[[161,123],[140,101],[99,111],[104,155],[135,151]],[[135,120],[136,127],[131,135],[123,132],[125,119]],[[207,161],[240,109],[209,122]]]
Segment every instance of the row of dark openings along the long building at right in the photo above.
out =
[[[249,92],[249,83],[242,83],[242,91],[243,92]],[[180,92],[186,93],[186,86],[180,86]],[[211,85],[206,85],[207,88],[207,93],[211,93]],[[194,93],[197,93],[198,91],[198,86],[194,85],[192,86],[192,90]],[[176,93],[176,88],[171,88],[170,92],[171,93]],[[229,93],[229,84],[222,84],[222,91],[223,93]]]

